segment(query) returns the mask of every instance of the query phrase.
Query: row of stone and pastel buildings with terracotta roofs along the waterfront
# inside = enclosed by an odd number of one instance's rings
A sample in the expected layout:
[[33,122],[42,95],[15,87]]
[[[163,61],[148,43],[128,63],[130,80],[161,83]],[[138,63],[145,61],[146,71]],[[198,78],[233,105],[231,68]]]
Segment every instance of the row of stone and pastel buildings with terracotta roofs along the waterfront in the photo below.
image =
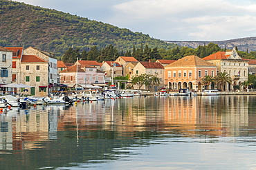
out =
[[[107,86],[109,81],[117,76],[139,74],[157,74],[161,79],[154,90],[166,87],[168,89],[190,88],[203,90],[217,88],[230,91],[233,85],[248,81],[248,74],[255,73],[255,60],[242,59],[235,48],[226,52],[217,52],[200,59],[198,56],[185,56],[175,60],[157,60],[156,62],[137,61],[132,56],[119,56],[116,61],[82,61],[63,63],[57,61],[54,55],[35,47],[0,47],[0,86],[9,83],[29,85],[30,95],[40,96],[48,93],[54,87],[86,87],[87,85]],[[205,87],[201,78],[205,75],[216,76],[218,72],[227,72],[232,83],[223,85],[212,84]],[[122,81],[122,80],[120,80]],[[126,80],[127,81],[127,80]],[[124,83],[129,83],[124,82]],[[0,87],[1,91],[8,91]],[[136,85],[134,85],[136,89]],[[145,88],[145,87],[143,87]]]

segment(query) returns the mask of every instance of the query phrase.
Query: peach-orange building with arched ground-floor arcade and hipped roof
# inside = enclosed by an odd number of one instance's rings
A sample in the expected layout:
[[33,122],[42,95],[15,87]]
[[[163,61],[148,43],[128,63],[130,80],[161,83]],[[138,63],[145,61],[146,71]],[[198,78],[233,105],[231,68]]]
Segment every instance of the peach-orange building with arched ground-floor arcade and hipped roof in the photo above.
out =
[[[165,86],[169,89],[189,88],[203,90],[201,78],[215,76],[217,66],[198,56],[185,56],[165,66]],[[213,87],[212,87],[213,88]]]

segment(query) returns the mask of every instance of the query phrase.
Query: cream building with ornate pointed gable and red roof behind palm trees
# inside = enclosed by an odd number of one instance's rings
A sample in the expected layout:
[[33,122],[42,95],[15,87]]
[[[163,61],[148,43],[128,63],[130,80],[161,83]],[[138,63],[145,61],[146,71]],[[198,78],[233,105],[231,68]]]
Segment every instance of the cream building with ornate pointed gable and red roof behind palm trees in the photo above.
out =
[[[226,72],[232,78],[232,83],[224,83],[223,91],[234,90],[234,85],[239,85],[240,90],[241,83],[248,81],[248,60],[242,59],[235,47],[233,50],[227,50],[226,52],[216,52],[210,56],[205,56],[203,60],[208,61],[217,66],[218,72]],[[220,83],[217,84],[217,88],[221,89]]]

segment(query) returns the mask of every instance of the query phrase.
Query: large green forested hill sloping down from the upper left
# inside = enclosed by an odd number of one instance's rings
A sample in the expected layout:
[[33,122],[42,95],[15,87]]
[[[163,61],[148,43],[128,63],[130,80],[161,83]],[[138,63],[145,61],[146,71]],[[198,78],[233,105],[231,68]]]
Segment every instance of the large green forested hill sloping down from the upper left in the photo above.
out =
[[140,47],[141,43],[151,48],[176,46],[148,34],[15,1],[0,0],[0,23],[1,46],[33,46],[56,56],[71,46],[87,51],[94,45],[113,45],[120,51]]

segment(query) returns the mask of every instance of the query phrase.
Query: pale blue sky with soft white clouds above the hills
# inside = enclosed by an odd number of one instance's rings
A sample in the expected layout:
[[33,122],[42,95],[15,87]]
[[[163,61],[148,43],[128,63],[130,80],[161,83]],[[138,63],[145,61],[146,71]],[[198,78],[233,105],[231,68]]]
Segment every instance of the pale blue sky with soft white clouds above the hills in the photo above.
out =
[[[18,0],[14,0],[18,1]],[[165,41],[256,36],[256,0],[19,0]]]

